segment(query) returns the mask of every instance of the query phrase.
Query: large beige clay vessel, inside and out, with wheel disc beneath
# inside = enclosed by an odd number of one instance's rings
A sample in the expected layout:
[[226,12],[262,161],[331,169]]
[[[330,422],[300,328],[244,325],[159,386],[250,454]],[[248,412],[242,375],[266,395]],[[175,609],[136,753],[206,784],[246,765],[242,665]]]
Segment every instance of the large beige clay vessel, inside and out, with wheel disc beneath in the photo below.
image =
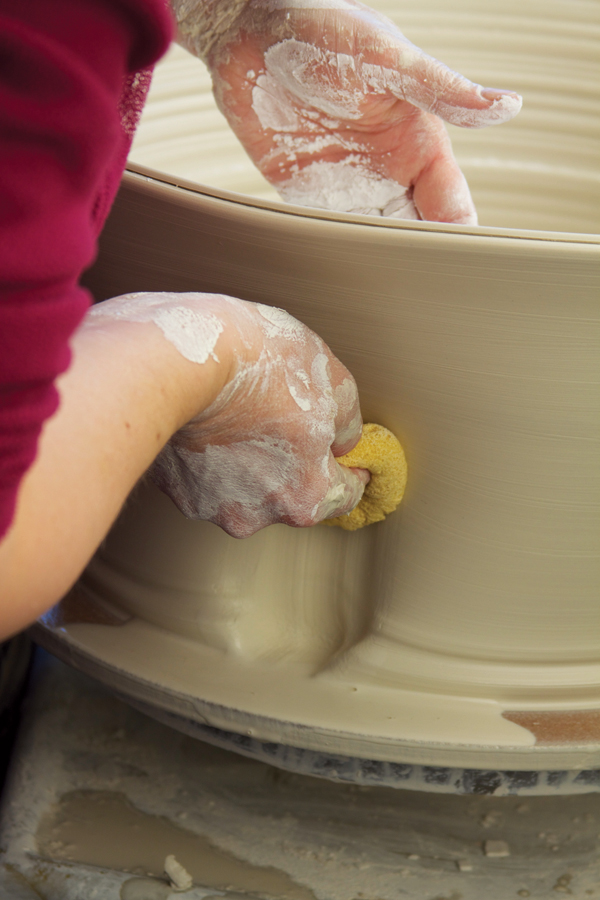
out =
[[236,542],[145,486],[35,635],[140,709],[284,768],[597,790],[594,4],[413,7],[382,11],[525,97],[508,125],[451,129],[481,227],[279,203],[175,50],[86,276],[99,300],[206,290],[304,321],[403,444],[400,510],[354,535]]

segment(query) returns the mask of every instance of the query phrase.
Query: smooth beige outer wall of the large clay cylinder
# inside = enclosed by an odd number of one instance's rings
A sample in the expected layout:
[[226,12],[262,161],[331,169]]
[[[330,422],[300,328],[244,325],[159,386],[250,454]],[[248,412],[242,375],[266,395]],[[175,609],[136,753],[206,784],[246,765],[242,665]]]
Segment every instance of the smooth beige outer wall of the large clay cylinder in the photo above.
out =
[[250,657],[392,684],[433,667],[467,692],[485,662],[492,693],[513,696],[513,670],[535,664],[527,690],[581,687],[600,647],[597,259],[583,235],[371,224],[128,174],[96,295],[206,290],[284,307],[353,372],[365,420],[404,445],[409,481],[367,531],[281,526],[241,543],[147,496],[88,577]]

